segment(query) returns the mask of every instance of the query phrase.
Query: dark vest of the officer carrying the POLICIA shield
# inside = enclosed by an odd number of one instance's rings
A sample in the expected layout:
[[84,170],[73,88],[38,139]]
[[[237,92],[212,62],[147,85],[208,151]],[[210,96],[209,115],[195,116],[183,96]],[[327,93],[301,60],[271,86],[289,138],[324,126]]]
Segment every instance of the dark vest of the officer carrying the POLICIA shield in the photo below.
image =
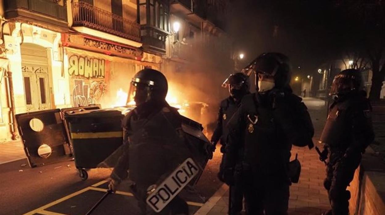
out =
[[129,178],[138,186],[156,184],[191,157],[180,116],[170,107],[145,119],[131,116],[128,122]]

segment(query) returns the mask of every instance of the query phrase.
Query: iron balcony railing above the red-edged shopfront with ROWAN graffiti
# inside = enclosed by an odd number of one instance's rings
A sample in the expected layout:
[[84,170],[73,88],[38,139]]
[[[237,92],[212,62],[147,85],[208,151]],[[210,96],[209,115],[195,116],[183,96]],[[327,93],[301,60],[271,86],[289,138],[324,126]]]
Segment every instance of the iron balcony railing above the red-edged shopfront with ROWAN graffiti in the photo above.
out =
[[84,26],[119,37],[141,41],[140,25],[126,18],[95,7],[85,2],[72,3],[74,23],[72,26]]

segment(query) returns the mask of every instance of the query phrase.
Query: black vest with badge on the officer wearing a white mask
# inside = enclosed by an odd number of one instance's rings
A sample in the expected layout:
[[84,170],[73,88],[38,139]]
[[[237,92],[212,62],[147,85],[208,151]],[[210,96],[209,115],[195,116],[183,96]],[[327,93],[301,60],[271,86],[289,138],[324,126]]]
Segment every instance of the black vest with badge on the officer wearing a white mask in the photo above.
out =
[[282,130],[276,125],[273,111],[261,107],[255,93],[242,100],[244,118],[243,160],[261,178],[281,178],[286,180],[286,163],[290,159],[291,145],[287,144]]

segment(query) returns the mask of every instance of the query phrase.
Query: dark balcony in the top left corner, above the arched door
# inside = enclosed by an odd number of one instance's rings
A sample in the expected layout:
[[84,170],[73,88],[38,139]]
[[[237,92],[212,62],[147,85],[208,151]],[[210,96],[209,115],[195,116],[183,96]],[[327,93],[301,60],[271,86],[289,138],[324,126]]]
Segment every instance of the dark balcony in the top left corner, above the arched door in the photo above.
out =
[[5,18],[45,23],[61,29],[68,28],[66,1],[4,0]]

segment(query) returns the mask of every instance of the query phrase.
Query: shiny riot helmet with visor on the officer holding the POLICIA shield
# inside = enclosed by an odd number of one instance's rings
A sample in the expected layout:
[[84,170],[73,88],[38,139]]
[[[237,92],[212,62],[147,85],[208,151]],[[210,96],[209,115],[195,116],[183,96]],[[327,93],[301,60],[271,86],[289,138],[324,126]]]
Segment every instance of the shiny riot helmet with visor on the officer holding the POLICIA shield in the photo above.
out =
[[148,101],[165,101],[168,85],[164,75],[153,69],[144,69],[131,80],[127,105],[141,105]]

